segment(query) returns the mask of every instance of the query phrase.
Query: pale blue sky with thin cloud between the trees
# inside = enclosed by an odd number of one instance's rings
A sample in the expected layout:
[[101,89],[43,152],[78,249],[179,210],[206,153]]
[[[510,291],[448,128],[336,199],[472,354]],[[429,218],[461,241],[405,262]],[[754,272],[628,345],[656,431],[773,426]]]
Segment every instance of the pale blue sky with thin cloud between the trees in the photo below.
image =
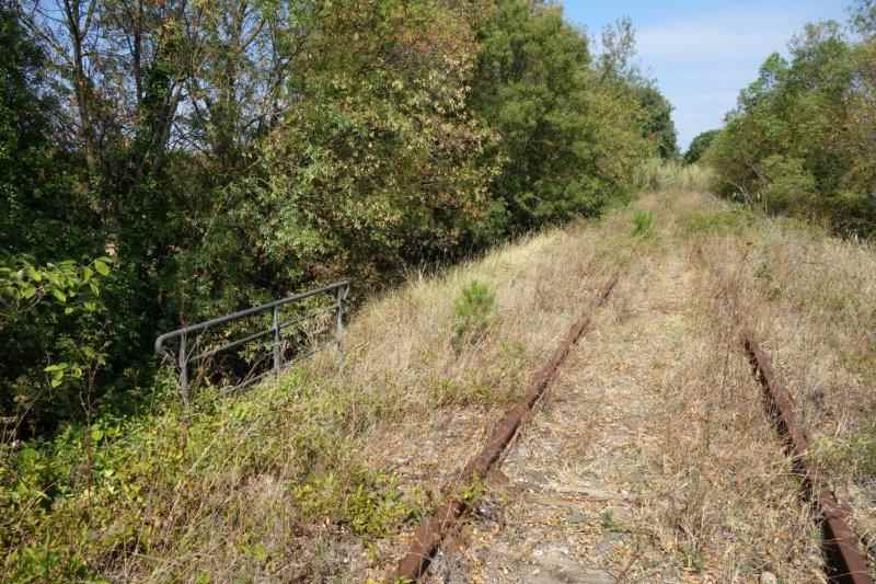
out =
[[807,22],[848,19],[848,0],[561,0],[567,21],[598,35],[633,19],[638,62],[672,102],[679,144],[719,127],[739,90]]

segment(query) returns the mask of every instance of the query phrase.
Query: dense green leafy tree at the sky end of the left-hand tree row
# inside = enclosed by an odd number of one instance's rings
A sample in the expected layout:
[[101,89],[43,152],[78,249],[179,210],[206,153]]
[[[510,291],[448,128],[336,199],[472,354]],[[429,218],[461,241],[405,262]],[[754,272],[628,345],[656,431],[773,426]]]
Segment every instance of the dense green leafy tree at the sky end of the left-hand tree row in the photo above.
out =
[[593,215],[630,187],[642,112],[600,82],[587,38],[558,7],[503,0],[480,31],[472,104],[500,137],[489,156],[496,220],[508,231]]

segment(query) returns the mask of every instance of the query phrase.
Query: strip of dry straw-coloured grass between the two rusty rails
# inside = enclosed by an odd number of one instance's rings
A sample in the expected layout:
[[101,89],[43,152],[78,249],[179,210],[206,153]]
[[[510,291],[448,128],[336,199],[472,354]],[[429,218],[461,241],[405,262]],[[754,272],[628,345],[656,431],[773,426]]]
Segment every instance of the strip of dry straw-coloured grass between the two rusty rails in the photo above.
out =
[[[465,577],[822,580],[818,534],[739,350],[738,294],[712,276],[688,227],[712,201],[637,203],[654,227],[630,243],[608,308],[503,466],[502,527],[474,522]],[[632,228],[633,216],[602,233]],[[595,261],[611,270],[610,255]]]

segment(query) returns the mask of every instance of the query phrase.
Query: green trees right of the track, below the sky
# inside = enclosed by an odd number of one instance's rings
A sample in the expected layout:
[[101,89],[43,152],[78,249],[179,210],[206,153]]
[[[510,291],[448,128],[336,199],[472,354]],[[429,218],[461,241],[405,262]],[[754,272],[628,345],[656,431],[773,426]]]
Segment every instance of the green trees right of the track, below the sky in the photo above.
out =
[[807,25],[789,59],[770,56],[705,158],[725,195],[873,237],[876,2],[858,0],[845,27]]

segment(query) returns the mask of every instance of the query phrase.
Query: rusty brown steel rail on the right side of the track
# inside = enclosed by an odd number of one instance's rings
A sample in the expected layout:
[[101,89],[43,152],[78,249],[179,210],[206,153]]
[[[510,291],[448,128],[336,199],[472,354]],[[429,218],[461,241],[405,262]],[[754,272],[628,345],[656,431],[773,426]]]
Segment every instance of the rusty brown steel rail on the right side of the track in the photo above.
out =
[[820,470],[806,459],[809,439],[797,424],[791,394],[776,378],[770,356],[760,348],[751,332],[742,334],[742,345],[754,378],[763,389],[766,413],[785,440],[787,454],[793,457],[794,472],[803,481],[804,494],[819,512],[828,580],[833,584],[873,584],[867,562],[857,546],[858,538],[846,523],[849,513],[831,491],[819,486]]

